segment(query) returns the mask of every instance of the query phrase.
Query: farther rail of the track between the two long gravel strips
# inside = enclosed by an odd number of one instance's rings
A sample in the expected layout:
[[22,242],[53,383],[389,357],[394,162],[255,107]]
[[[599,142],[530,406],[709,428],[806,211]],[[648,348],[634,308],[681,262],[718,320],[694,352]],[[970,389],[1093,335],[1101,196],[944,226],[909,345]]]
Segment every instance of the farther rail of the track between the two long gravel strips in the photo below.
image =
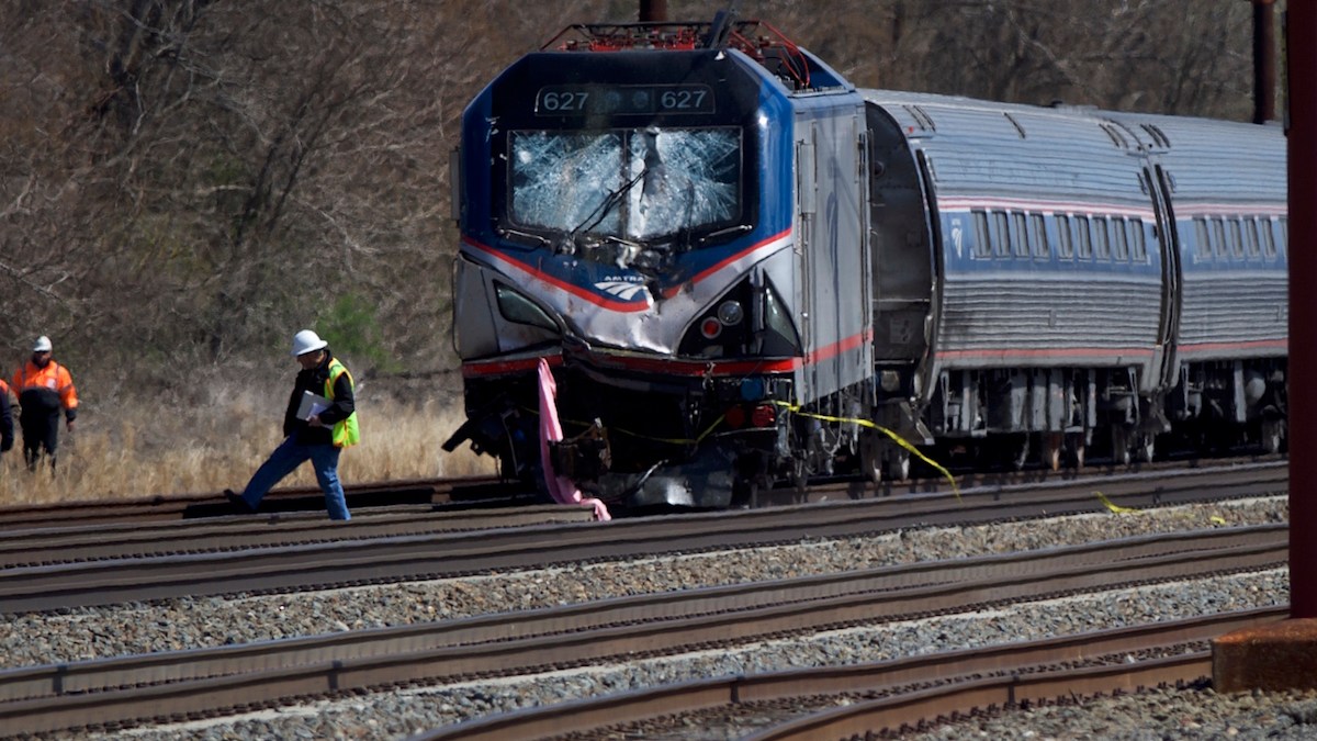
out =
[[[266,662],[287,666],[308,659],[345,659],[362,655],[391,653],[403,647],[441,647],[482,642],[548,636],[569,625],[570,630],[590,630],[611,625],[641,622],[657,618],[686,618],[697,614],[730,613],[782,604],[801,604],[851,595],[871,595],[892,592],[884,603],[896,609],[909,609],[902,605],[897,589],[914,589],[930,585],[964,584],[980,580],[1030,579],[1059,574],[1062,568],[1089,571],[1094,566],[1134,559],[1183,558],[1184,554],[1212,554],[1227,548],[1231,552],[1252,551],[1263,555],[1263,562],[1274,559],[1276,548],[1284,541],[1283,526],[1255,526],[1181,533],[1171,535],[1143,535],[1084,543],[1063,548],[1019,551],[1010,554],[975,556],[955,560],[921,562],[893,567],[856,570],[842,574],[805,576],[773,583],[772,591],[765,591],[761,583],[734,584],[726,587],[706,587],[680,592],[660,592],[565,605],[516,613],[515,620],[507,614],[481,616],[465,620],[424,624],[417,626],[398,626],[377,630],[352,632],[346,636],[329,634],[307,638],[290,638],[279,642],[278,655],[270,646],[223,647],[194,650],[187,653],[191,675],[233,674],[262,668]],[[1251,563],[1250,566],[1256,566]],[[951,603],[946,609],[963,605]],[[878,609],[878,608],[876,608]],[[890,608],[884,613],[889,617]],[[932,604],[921,604],[921,612],[930,612]],[[377,647],[379,646],[379,647]],[[246,657],[258,657],[257,663],[242,663]],[[208,668],[211,662],[213,668]],[[157,667],[174,666],[178,658],[173,654],[149,654],[145,657],[112,658],[87,662],[84,665],[63,665],[34,670],[0,671],[0,700],[40,696],[70,691],[96,691],[116,684],[137,684],[170,679]],[[136,674],[141,671],[141,674]],[[107,679],[111,678],[111,679]]]

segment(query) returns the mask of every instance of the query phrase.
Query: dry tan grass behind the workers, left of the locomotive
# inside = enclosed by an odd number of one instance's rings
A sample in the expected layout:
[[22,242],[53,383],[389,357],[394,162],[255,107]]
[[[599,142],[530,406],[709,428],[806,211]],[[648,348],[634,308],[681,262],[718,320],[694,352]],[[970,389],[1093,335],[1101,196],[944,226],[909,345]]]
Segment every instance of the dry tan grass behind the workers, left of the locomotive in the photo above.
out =
[[[186,407],[150,403],[97,405],[61,430],[59,468],[30,473],[21,434],[0,456],[0,506],[75,500],[136,498],[184,492],[241,489],[281,440],[283,396],[271,389],[215,392],[213,402]],[[493,459],[440,444],[461,423],[460,406],[439,398],[404,403],[358,393],[361,444],[344,452],[344,483],[495,473]],[[279,487],[315,485],[303,465]]]

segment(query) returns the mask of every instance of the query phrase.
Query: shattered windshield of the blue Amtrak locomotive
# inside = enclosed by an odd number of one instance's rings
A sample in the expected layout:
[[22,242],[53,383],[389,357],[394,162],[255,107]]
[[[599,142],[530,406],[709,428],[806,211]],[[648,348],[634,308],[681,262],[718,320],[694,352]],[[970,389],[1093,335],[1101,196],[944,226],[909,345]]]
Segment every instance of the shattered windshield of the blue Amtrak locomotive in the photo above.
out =
[[511,220],[652,240],[740,218],[740,131],[511,132]]

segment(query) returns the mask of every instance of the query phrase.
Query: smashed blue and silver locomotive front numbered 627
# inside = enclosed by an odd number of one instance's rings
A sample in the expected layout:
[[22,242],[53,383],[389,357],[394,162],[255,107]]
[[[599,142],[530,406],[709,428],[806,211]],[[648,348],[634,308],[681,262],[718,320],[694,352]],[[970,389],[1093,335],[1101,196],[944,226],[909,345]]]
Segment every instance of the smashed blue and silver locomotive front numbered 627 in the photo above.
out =
[[751,28],[728,49],[699,24],[574,26],[471,102],[454,160],[468,422],[446,450],[541,477],[545,360],[566,435],[548,463],[582,490],[716,508],[789,469],[794,142],[764,66],[782,42]]

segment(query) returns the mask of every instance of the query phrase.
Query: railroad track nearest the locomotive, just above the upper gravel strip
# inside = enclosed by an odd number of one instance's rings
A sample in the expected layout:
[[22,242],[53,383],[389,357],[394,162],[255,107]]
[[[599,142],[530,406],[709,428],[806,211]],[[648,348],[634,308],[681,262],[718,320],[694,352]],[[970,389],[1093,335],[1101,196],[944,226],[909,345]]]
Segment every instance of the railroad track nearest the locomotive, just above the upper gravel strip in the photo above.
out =
[[[0,538],[0,614],[43,612],[182,596],[271,593],[487,574],[560,563],[698,552],[802,538],[844,538],[928,525],[1055,517],[1106,508],[1146,508],[1288,488],[1284,463],[1126,473],[1101,480],[1047,481],[957,494],[839,500],[801,508],[651,517],[453,531],[443,517],[416,514],[333,523],[321,518],[240,517],[216,526],[176,525],[105,538],[94,560],[79,548],[49,548],[57,538],[104,538],[94,531],[38,530]],[[583,517],[564,508],[565,517]],[[545,513],[545,516],[549,516]],[[421,522],[421,523],[417,523]],[[216,530],[216,527],[219,527]],[[369,533],[369,535],[367,535]],[[606,533],[606,535],[602,535]],[[278,545],[277,545],[278,542]],[[211,543],[211,547],[203,547]],[[246,543],[233,547],[234,543]],[[90,546],[88,546],[90,548]],[[62,556],[59,554],[63,554]],[[53,558],[63,560],[53,562]]]

